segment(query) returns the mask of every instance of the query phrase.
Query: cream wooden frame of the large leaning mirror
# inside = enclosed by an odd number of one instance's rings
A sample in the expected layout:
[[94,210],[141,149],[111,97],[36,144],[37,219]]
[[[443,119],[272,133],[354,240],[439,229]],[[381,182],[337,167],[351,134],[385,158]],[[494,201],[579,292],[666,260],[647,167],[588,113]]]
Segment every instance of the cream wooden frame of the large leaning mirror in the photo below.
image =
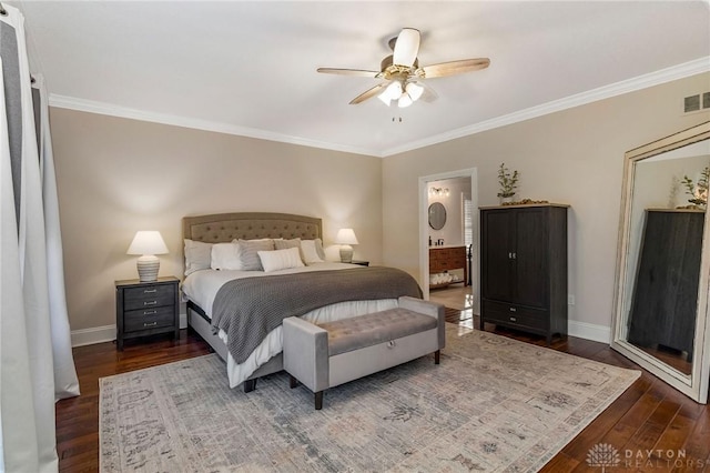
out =
[[710,316],[708,315],[708,292],[710,291],[710,244],[708,244],[710,238],[710,219],[708,219],[708,212],[710,212],[710,209],[706,211],[702,234],[702,255],[700,261],[700,280],[698,283],[698,316],[696,318],[693,363],[690,375],[661,362],[626,340],[622,340],[620,336],[625,333],[623,294],[627,290],[633,290],[633,288],[626,288],[626,268],[630,244],[635,165],[638,161],[646,158],[708,139],[710,139],[710,122],[704,122],[625,153],[619,244],[617,246],[616,291],[611,321],[611,348],[613,350],[701,404],[708,402],[708,385],[710,383],[710,345],[708,342],[710,339]]

